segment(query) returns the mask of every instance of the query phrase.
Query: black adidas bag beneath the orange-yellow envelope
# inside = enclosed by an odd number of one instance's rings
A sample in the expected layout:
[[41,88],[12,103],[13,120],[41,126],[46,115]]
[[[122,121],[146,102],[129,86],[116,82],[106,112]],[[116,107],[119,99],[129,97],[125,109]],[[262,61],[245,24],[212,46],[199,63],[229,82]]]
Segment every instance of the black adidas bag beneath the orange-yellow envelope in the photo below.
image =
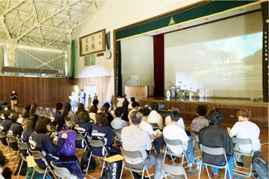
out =
[[104,170],[102,174],[102,179],[118,179],[122,172],[122,161],[107,162],[104,161]]

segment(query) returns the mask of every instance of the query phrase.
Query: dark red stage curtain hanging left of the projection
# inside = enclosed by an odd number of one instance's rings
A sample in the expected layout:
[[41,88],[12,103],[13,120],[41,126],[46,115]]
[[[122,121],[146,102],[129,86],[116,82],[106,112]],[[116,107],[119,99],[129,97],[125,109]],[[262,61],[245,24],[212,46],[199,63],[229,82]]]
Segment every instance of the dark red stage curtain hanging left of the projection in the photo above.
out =
[[165,50],[164,35],[153,36],[153,57],[154,57],[154,97],[164,97],[165,81]]

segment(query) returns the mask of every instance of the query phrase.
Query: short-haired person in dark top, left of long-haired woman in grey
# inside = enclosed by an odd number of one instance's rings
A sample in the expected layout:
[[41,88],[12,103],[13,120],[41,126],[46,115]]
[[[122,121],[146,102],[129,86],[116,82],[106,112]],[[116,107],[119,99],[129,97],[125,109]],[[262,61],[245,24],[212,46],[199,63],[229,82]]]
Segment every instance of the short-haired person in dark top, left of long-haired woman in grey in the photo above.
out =
[[64,116],[62,116],[63,104],[57,102],[56,104],[56,112],[52,114],[51,126],[57,127],[57,130],[60,131],[64,127],[65,120]]

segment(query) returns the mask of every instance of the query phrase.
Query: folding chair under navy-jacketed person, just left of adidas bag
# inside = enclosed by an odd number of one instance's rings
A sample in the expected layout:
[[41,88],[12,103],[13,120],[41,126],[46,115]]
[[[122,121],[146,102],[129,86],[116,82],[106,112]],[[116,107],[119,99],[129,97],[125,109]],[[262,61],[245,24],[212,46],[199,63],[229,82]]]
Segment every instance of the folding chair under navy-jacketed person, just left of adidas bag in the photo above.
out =
[[[90,158],[92,156],[95,157],[95,158],[97,158],[98,161],[99,161],[99,163],[100,163],[100,165],[102,165],[100,159],[105,159],[107,157],[107,155],[108,155],[107,149],[106,149],[106,147],[104,145],[104,142],[101,141],[101,140],[92,140],[89,137],[88,137],[88,140],[90,141],[90,145],[93,146],[93,147],[104,147],[104,150],[105,150],[105,155],[104,156],[96,156],[96,155],[93,155],[93,152],[92,151],[90,152]],[[89,162],[88,162],[87,169],[86,169],[86,175],[88,177],[93,178],[92,176],[88,175],[88,168],[89,168],[89,165],[90,165],[90,158],[89,158]],[[102,165],[101,177],[102,177],[102,174],[103,174],[103,170],[104,170],[104,162],[103,162],[103,165]]]

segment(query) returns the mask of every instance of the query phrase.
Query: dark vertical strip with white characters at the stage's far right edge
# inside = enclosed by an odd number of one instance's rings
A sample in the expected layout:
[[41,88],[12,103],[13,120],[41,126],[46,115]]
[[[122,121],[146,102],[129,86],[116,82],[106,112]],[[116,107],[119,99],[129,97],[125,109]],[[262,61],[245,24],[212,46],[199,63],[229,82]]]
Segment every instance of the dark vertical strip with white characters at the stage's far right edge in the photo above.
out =
[[262,89],[263,102],[268,102],[268,2],[261,3],[263,21]]

